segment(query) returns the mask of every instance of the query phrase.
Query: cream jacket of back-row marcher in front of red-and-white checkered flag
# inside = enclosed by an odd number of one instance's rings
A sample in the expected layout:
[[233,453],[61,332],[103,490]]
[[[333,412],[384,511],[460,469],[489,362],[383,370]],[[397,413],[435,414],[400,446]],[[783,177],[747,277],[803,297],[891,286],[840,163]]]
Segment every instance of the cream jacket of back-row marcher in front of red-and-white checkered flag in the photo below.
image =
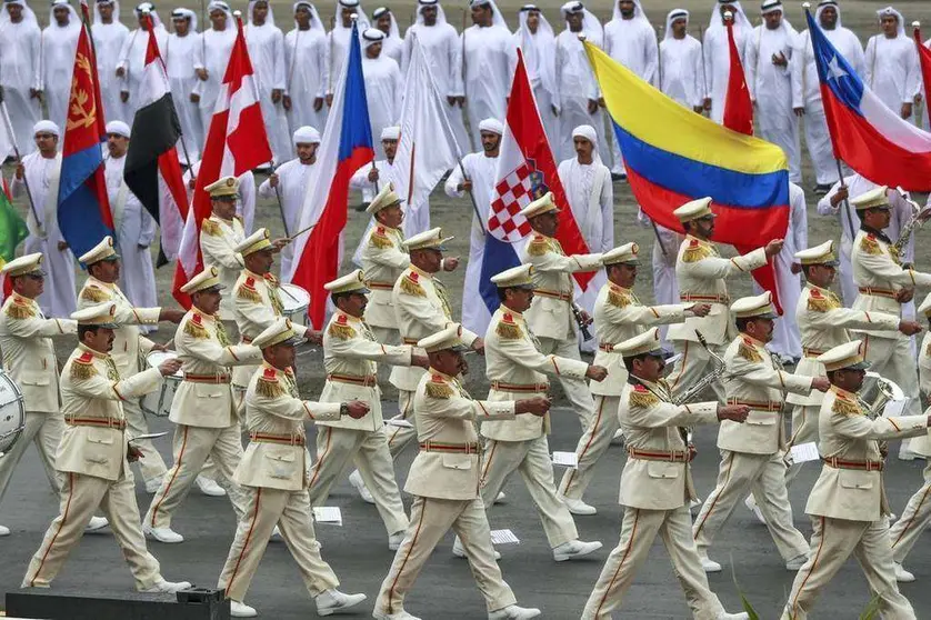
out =
[[537,294],[527,311],[527,322],[538,338],[574,340],[578,324],[572,313],[572,273],[601,268],[601,254],[567,257],[559,241],[534,233],[523,250],[523,262],[533,264]]

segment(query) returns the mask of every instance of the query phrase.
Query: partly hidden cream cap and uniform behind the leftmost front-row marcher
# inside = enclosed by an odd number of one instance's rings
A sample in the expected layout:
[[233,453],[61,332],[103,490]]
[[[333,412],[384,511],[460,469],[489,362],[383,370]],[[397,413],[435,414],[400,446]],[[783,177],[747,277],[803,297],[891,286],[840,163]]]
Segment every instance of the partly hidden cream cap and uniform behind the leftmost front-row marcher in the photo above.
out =
[[[100,261],[119,258],[113,250],[113,238],[108,236],[78,260],[90,267]],[[129,378],[148,368],[144,361],[140,364],[140,358],[144,360],[154,342],[142,334],[139,326],[158,324],[161,308],[136,308],[116,282],[108,283],[88,276],[81,292],[78,293],[78,309],[110,301],[117,304],[117,322],[120,324],[113,330],[113,349],[110,357],[116,362],[120,377]],[[127,436],[130,439],[149,433],[149,423],[138,399],[123,402],[123,416],[127,421]],[[149,439],[133,441],[133,446],[142,451],[142,458],[137,461],[142,480],[149,487],[158,484],[168,470],[161,454]]]

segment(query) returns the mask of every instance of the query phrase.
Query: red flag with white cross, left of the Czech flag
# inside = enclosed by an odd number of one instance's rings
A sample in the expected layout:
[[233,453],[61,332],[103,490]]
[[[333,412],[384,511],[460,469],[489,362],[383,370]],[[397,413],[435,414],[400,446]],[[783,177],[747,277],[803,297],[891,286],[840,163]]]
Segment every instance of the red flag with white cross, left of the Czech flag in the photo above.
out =
[[181,292],[181,287],[203,269],[200,227],[211,212],[210,196],[203,188],[221,177],[239,177],[272,159],[253,81],[252,62],[242,32],[242,19],[237,17],[236,21],[236,42],[203,144],[203,158],[174,269],[172,294],[184,308],[190,308],[191,301]]

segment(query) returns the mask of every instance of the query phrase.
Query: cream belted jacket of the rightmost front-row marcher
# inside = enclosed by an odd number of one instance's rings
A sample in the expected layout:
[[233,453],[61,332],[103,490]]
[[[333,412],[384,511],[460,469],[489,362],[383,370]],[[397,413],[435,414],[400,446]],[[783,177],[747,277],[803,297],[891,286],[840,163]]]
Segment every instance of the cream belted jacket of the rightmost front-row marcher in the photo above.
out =
[[[822,459],[881,461],[879,440],[920,437],[927,432],[927,416],[871,420],[857,402],[857,394],[831,387],[818,414],[818,451]],[[805,512],[848,521],[878,521],[889,512],[882,472],[839,469],[824,463]]]

